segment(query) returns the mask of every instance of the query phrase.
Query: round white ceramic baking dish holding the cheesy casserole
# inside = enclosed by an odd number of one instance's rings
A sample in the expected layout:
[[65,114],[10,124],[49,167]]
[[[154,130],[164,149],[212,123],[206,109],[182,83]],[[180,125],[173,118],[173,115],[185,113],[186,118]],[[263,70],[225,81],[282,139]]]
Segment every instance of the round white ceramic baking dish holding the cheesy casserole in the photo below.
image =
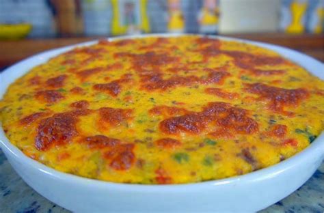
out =
[[[140,35],[120,38],[139,38]],[[113,38],[120,39],[120,38]],[[224,40],[237,40],[213,37]],[[323,63],[280,46],[237,40],[269,48],[295,61],[324,79]],[[86,42],[46,51],[6,69],[0,75],[0,98],[6,88],[30,68]],[[116,184],[90,180],[55,171],[28,158],[5,137],[0,129],[0,145],[10,164],[23,180],[40,195],[74,212],[255,212],[280,201],[301,186],[321,165],[324,133],[299,154],[283,162],[246,175],[223,180],[179,185]]]

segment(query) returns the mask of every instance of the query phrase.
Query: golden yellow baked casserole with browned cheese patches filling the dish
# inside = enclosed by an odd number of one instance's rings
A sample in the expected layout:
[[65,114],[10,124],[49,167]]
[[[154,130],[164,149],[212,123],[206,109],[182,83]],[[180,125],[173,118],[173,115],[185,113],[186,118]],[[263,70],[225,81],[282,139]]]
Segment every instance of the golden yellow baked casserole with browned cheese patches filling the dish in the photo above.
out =
[[258,46],[101,40],[53,57],[0,102],[8,139],[59,171],[180,184],[274,165],[324,128],[324,82]]

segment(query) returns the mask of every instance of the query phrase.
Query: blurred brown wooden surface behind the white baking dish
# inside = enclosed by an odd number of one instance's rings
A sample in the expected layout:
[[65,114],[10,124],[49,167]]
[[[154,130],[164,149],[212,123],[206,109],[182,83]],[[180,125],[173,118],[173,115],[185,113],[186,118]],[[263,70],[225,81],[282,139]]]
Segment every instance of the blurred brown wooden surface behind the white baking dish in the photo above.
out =
[[[286,35],[284,33],[231,34],[235,38],[243,38],[259,42],[267,42],[293,48],[324,61],[324,38],[321,35]],[[25,59],[36,53],[70,44],[77,44],[98,38],[56,38],[38,40],[0,41],[0,68]]]

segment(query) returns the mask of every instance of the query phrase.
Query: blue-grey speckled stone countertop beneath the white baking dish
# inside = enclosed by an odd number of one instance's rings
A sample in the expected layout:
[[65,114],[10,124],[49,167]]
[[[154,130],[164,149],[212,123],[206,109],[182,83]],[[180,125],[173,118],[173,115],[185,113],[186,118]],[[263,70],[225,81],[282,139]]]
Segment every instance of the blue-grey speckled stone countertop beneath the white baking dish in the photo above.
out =
[[[42,197],[12,169],[0,150],[0,212],[69,212]],[[324,163],[295,193],[261,212],[324,212]]]

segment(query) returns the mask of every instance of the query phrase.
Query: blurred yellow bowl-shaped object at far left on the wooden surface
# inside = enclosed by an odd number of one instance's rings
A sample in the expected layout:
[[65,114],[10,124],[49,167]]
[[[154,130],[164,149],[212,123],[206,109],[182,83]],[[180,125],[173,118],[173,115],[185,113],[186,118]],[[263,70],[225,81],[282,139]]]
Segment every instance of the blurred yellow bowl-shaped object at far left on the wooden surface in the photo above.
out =
[[25,38],[31,31],[31,25],[21,23],[16,25],[0,24],[0,40],[18,40]]

